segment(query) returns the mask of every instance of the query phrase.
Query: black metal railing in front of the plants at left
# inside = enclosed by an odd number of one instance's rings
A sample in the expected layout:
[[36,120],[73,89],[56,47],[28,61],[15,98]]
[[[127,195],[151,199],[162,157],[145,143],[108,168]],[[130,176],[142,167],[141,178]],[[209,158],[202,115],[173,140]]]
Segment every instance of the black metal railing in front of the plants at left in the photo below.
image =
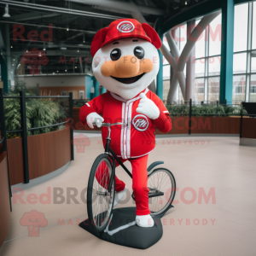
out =
[[[29,183],[29,167],[28,167],[28,151],[27,151],[27,131],[35,131],[39,129],[54,127],[57,125],[64,125],[70,122],[73,119],[73,93],[70,92],[69,96],[26,96],[25,91],[20,91],[20,96],[3,96],[3,89],[0,89],[0,105],[1,105],[1,135],[2,138],[6,138],[7,133],[20,132],[22,138],[22,153],[23,153],[23,170],[24,170],[24,183]],[[21,116],[21,129],[6,131],[5,130],[5,121],[4,121],[4,107],[3,107],[3,99],[16,98],[20,99],[20,116]],[[67,121],[54,124],[54,125],[46,125],[40,127],[26,127],[26,99],[27,98],[68,98],[69,99],[69,119]],[[73,129],[70,127],[70,145],[71,145],[71,160],[74,160],[73,157]],[[4,146],[3,151],[7,151],[7,143],[6,139],[3,139]]]

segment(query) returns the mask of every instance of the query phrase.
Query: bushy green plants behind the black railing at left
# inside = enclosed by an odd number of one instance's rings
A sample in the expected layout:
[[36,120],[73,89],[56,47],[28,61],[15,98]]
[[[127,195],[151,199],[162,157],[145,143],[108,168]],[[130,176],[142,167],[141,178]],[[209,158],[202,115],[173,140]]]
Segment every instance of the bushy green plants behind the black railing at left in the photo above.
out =
[[[32,90],[27,90],[23,81],[15,84],[15,88],[10,91],[11,96],[19,96],[18,92],[25,90],[26,96],[33,96]],[[20,117],[20,99],[6,98],[4,99],[5,125],[7,131],[16,131],[21,129]],[[26,98],[26,127],[40,127],[54,125],[65,119],[67,114],[58,100],[51,98]],[[55,131],[56,127],[38,129],[35,131],[27,131],[27,135],[45,133]],[[20,133],[8,133],[8,138],[20,137]]]

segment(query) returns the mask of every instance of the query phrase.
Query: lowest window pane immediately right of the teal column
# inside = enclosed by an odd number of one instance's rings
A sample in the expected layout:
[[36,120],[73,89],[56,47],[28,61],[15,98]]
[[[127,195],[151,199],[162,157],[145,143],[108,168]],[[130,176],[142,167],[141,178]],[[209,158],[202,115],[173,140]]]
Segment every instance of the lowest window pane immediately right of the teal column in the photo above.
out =
[[233,102],[243,102],[245,100],[246,76],[233,76]]

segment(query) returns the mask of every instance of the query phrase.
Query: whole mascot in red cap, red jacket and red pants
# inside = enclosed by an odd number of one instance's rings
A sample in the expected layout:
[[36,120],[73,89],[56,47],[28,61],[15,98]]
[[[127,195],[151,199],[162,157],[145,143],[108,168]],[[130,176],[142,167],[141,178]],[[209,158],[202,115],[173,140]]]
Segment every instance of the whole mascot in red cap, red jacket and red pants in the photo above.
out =
[[[111,148],[122,162],[132,167],[132,189],[136,201],[136,224],[154,226],[148,207],[148,153],[154,149],[155,127],[167,132],[172,128],[169,113],[148,85],[160,66],[157,49],[160,38],[152,26],[137,20],[115,20],[96,33],[91,43],[92,70],[108,92],[86,103],[79,113],[83,124],[93,128],[102,122],[124,122],[113,126]],[[103,145],[108,127],[102,127]],[[119,166],[116,163],[116,166]],[[125,196],[125,183],[115,177],[115,207]]]

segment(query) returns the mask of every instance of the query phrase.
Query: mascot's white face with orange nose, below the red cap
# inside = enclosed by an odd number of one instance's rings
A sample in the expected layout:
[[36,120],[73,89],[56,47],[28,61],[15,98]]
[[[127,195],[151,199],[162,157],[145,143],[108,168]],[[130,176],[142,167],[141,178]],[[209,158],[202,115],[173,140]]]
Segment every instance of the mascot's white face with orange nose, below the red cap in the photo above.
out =
[[159,61],[153,44],[142,38],[122,38],[98,49],[92,70],[102,86],[129,100],[152,83]]

